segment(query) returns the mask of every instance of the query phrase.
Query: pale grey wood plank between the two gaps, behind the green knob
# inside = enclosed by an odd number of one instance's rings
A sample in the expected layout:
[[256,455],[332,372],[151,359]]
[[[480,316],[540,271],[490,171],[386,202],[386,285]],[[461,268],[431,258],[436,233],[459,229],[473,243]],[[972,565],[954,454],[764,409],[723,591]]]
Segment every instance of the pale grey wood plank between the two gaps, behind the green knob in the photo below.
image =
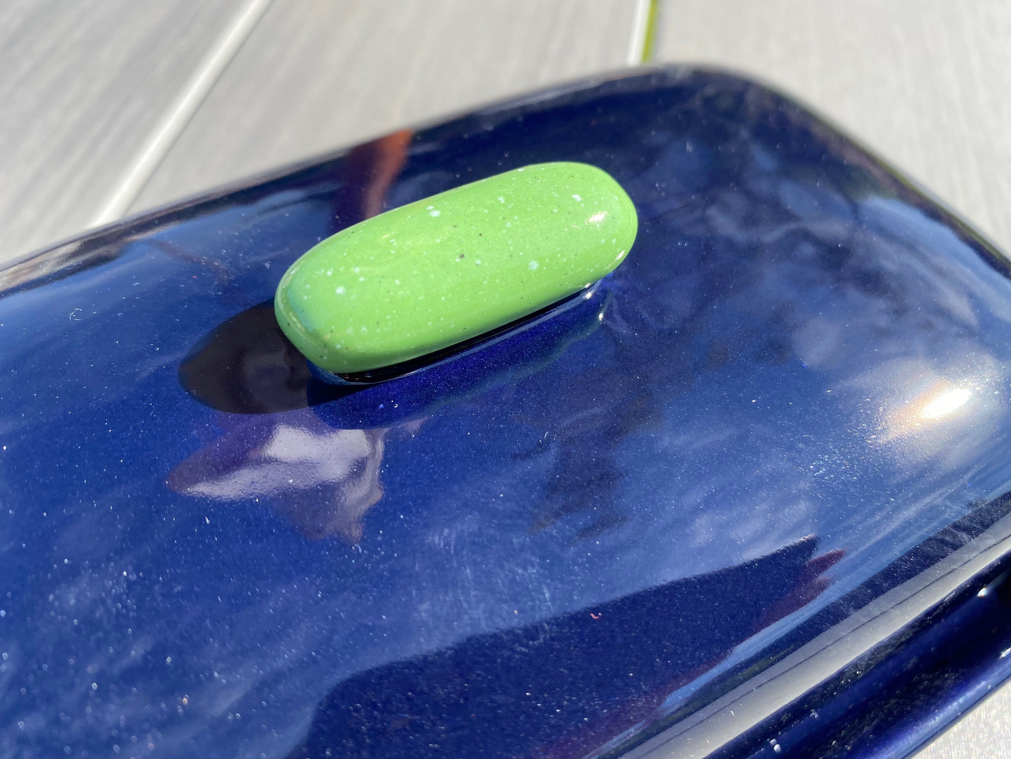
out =
[[631,0],[275,2],[133,210],[625,65]]

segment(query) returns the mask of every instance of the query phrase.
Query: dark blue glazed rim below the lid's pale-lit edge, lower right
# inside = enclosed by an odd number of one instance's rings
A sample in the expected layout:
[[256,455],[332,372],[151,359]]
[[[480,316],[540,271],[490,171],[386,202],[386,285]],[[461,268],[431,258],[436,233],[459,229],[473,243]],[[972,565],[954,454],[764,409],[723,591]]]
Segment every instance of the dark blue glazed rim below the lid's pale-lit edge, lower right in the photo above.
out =
[[716,756],[902,757],[1011,675],[1008,558]]

